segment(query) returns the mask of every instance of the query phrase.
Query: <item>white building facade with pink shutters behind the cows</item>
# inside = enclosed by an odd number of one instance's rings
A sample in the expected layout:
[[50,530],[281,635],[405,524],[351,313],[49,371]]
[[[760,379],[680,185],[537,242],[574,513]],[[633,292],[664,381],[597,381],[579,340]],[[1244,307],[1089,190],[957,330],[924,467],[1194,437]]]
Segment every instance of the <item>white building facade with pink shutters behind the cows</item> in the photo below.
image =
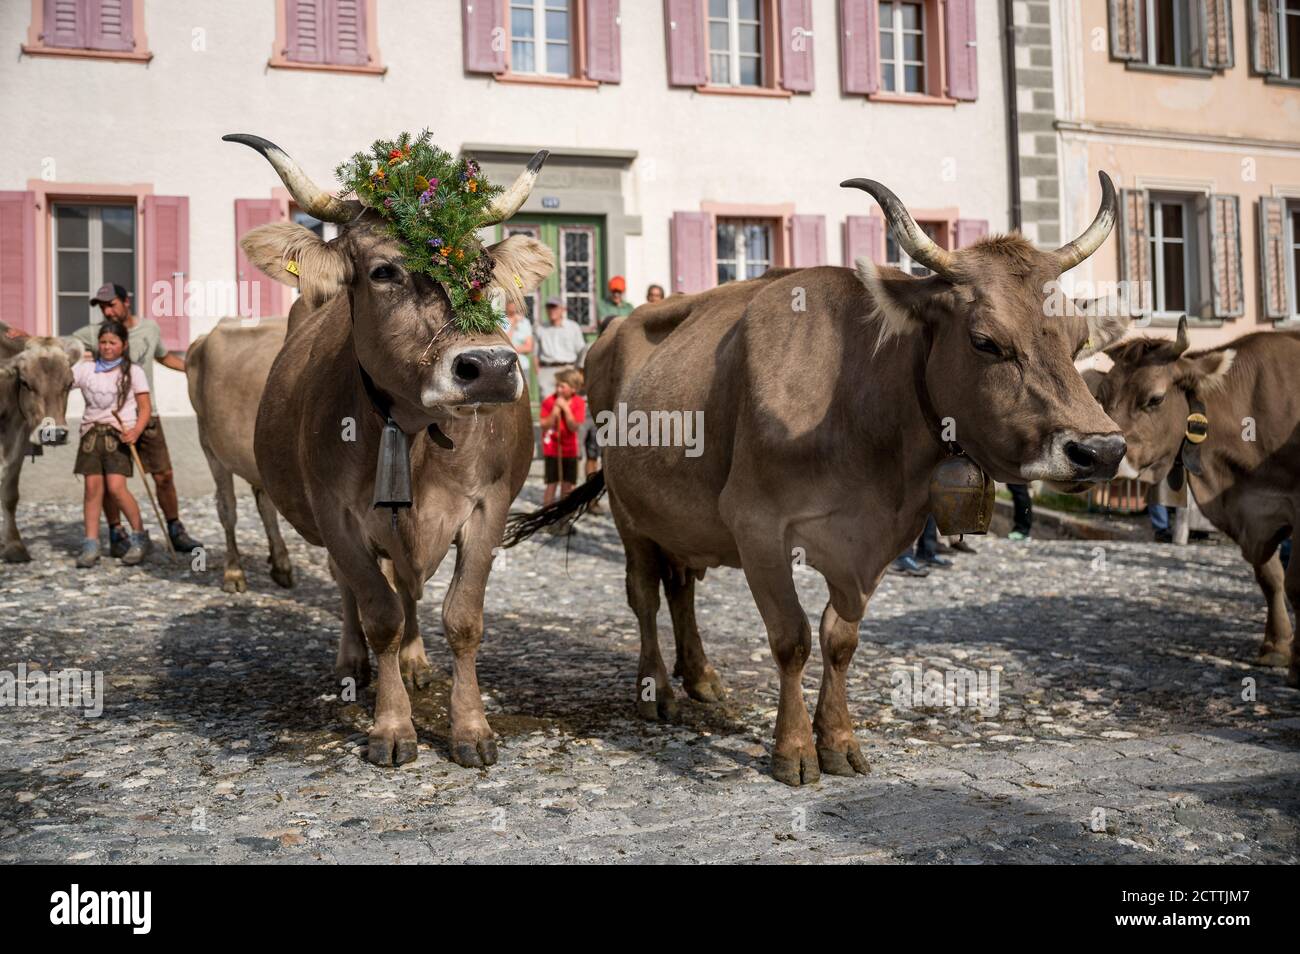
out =
[[[945,246],[1008,227],[1002,5],[988,0],[5,0],[0,320],[68,333],[101,283],[183,350],[282,313],[242,231],[299,213],[254,133],[318,183],[429,127],[508,181],[559,268],[533,307],[607,279],[697,291],[781,265],[897,261],[879,179]],[[316,225],[307,221],[308,225]],[[326,233],[328,234],[328,233]],[[906,264],[906,263],[904,263]],[[256,283],[256,285],[254,285]],[[170,286],[170,291],[164,290]],[[176,294],[181,291],[182,294]],[[179,374],[164,415],[192,413]]]

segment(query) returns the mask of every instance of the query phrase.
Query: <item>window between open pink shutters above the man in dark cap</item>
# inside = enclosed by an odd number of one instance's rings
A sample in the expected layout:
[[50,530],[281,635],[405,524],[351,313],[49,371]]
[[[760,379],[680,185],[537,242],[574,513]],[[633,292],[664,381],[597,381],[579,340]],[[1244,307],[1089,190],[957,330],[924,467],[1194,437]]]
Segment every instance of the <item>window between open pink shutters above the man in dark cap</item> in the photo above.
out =
[[135,294],[135,207],[64,205],[55,220],[56,334],[72,334],[95,320],[90,298],[114,282]]

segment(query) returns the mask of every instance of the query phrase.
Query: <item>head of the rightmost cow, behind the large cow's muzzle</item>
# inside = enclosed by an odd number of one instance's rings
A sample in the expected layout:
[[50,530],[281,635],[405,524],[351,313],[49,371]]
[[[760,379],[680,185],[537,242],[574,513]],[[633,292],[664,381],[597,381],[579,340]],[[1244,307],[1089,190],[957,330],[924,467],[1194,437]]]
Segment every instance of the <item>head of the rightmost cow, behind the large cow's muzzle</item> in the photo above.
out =
[[1106,352],[1114,365],[1093,378],[1093,390],[1128,443],[1121,477],[1152,483],[1165,478],[1183,445],[1188,391],[1205,394],[1219,386],[1236,354],[1221,348],[1186,355],[1186,350],[1184,320],[1176,341],[1136,338]]

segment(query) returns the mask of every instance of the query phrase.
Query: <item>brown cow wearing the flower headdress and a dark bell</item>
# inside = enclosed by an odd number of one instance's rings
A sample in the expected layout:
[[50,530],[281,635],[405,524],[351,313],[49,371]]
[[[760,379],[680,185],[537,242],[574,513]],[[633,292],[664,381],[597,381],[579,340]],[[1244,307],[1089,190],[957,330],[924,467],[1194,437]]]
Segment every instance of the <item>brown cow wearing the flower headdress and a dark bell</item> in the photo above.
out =
[[[455,656],[451,756],[490,766],[497,743],[484,714],[474,658],[482,638],[484,589],[511,500],[528,476],[533,429],[515,350],[502,331],[464,334],[446,292],[404,265],[404,252],[373,209],[326,195],[274,144],[226,136],[270,161],[299,207],[341,222],[333,242],[277,222],[254,229],[243,248],[272,278],[302,289],[285,346],[257,411],[254,450],[263,487],[311,543],[329,550],[343,599],[341,677],[369,678],[368,642],[378,658],[370,762],[416,756],[411,701],[403,686],[428,685],[416,600],[452,542],[456,565],[442,604]],[[537,153],[494,203],[489,221],[523,205],[546,159]],[[526,295],[551,272],[551,251],[526,235],[486,250],[493,286]],[[296,263],[292,272],[286,264]],[[410,437],[410,509],[372,506],[384,419]],[[364,641],[363,641],[364,632]]]

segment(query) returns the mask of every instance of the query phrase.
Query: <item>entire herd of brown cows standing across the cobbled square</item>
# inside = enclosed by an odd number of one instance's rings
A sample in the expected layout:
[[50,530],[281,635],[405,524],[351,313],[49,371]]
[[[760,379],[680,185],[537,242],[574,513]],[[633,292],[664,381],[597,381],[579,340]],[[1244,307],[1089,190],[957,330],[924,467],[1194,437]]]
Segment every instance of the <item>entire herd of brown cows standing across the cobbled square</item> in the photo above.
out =
[[[867,772],[846,697],[858,624],[889,563],[920,533],[931,474],[954,452],[997,481],[1071,490],[1117,473],[1187,480],[1264,590],[1261,664],[1290,665],[1291,685],[1300,682],[1287,612],[1288,600],[1300,607],[1300,560],[1283,571],[1278,556],[1300,526],[1300,333],[1190,352],[1186,329],[1173,342],[1121,342],[1126,318],[1088,308],[1052,315],[1048,289],[1097,251],[1115,221],[1105,174],[1095,221],[1053,252],[1019,235],[946,251],[888,188],[845,182],[880,204],[897,242],[932,274],[868,260],[855,270],[775,269],[616,320],[586,356],[590,409],[703,411],[703,452],[615,443],[594,480],[508,522],[533,426],[504,335],[456,329],[446,294],[406,269],[378,212],[329,195],[265,139],[228,139],[257,149],[298,205],[338,222],[339,235],[324,242],[290,222],[244,235],[250,260],[302,295],[287,318],[228,320],[188,352],[190,398],[226,532],[224,587],[246,589],[234,537],[238,474],[254,487],[276,582],[292,585],[277,513],[329,554],[343,617],[335,673],[365,685],[372,652],[377,660],[370,762],[416,758],[410,693],[432,678],[416,602],[452,543],[442,606],[451,756],[467,767],[497,760],[476,673],[494,552],[608,494],[641,633],[638,714],[676,714],[656,632],[660,586],[675,676],[692,698],[720,699],[696,624],[696,582],[711,567],[738,567],[780,669],[772,775],[800,785],[822,772]],[[534,157],[484,226],[519,209],[543,160]],[[529,294],[554,266],[550,250],[526,235],[486,252],[494,290],[506,295]],[[68,439],[69,361],[81,344],[0,337],[0,348],[3,555],[21,561],[20,467],[31,445]],[[1075,361],[1101,350],[1109,373],[1080,376]],[[400,511],[374,500],[389,419],[410,438],[411,506]],[[811,719],[801,680],[812,634],[794,585],[796,550],[829,589]]]

